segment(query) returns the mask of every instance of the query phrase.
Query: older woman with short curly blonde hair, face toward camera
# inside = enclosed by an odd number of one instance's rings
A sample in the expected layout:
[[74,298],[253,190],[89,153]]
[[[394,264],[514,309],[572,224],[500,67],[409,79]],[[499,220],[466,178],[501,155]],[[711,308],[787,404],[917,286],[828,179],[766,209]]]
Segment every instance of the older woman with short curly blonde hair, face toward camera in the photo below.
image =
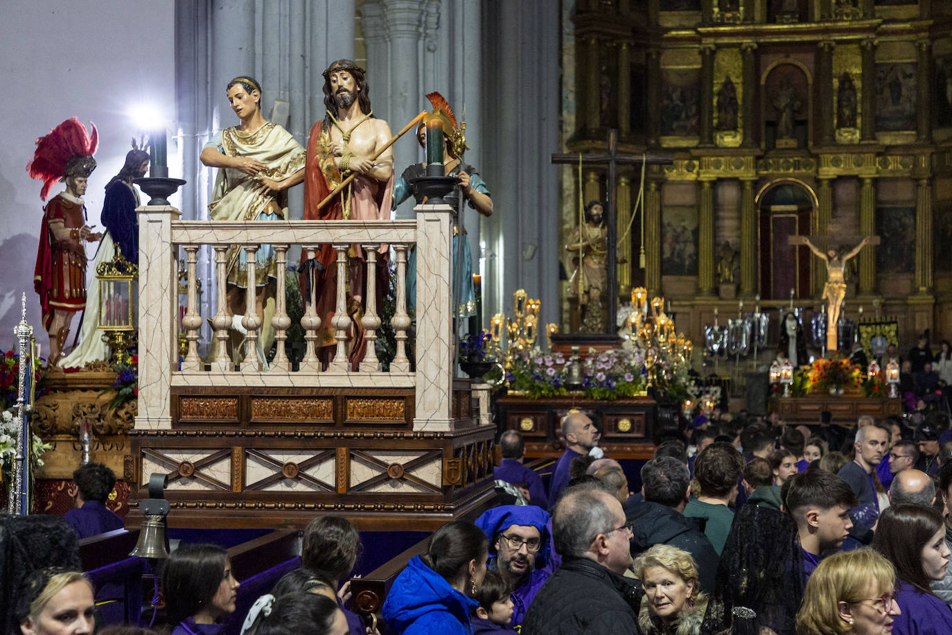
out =
[[707,596],[698,585],[691,554],[655,545],[635,559],[635,577],[645,586],[638,625],[645,635],[696,635],[701,632]]

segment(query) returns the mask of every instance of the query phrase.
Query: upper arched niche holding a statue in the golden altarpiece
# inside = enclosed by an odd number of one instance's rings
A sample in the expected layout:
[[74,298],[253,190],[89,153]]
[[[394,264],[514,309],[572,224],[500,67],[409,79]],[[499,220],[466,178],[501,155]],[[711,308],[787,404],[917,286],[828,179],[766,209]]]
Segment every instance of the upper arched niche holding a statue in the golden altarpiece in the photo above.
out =
[[780,64],[764,81],[764,139],[768,149],[805,148],[809,136],[810,88],[795,64]]

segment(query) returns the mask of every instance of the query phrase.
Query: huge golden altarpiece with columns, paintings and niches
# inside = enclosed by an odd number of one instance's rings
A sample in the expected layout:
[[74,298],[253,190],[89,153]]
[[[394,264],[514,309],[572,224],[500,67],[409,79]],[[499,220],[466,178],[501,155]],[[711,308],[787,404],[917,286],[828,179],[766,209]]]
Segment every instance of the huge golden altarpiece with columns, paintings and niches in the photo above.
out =
[[[903,344],[952,333],[952,3],[578,0],[565,19],[563,149],[604,152],[616,129],[620,153],[674,159],[647,167],[634,219],[641,169],[619,168],[623,303],[663,295],[695,342],[740,301],[819,311],[823,263],[788,236],[877,234],[846,315],[875,302]],[[560,169],[569,245],[605,169]]]

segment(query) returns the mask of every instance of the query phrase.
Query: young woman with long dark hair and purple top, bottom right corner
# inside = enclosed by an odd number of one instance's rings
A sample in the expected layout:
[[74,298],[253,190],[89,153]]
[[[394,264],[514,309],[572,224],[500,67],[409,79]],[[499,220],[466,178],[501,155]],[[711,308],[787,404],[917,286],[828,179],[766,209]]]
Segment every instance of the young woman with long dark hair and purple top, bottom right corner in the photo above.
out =
[[[931,507],[890,506],[880,516],[873,548],[896,567],[900,586],[897,633],[952,633],[952,609],[929,587],[945,577],[949,547],[942,515]],[[872,597],[872,596],[870,596]]]

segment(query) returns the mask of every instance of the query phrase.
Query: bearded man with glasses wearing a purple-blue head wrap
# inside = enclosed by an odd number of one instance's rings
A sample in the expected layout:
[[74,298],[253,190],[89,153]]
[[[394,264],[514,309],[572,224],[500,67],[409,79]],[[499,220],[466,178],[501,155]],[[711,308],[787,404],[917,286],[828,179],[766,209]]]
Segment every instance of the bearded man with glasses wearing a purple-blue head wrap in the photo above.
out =
[[545,510],[531,505],[494,507],[476,519],[489,541],[486,567],[499,571],[512,589],[513,628],[522,624],[536,593],[558,566],[553,563],[549,522]]

